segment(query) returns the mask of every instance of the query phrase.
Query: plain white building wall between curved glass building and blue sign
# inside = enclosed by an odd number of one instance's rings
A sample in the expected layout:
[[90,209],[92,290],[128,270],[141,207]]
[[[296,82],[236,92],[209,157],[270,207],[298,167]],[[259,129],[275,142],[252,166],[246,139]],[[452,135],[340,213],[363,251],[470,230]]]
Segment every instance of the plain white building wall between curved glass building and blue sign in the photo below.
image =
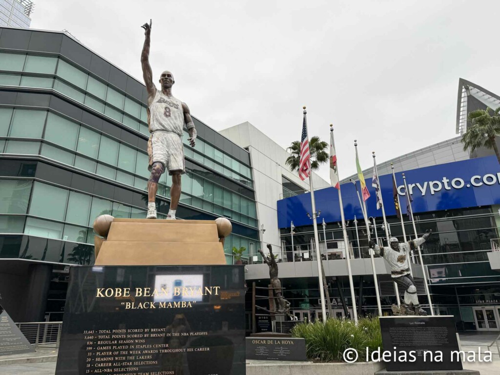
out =
[[[239,145],[248,147],[252,166],[253,188],[259,227],[264,224],[265,232],[261,233],[261,247],[267,252],[265,245],[270,243],[273,247],[280,247],[279,230],[277,222],[276,202],[282,198],[281,175],[309,191],[309,181],[302,181],[298,173],[290,172],[285,165],[289,153],[279,144],[270,139],[249,122],[243,122],[219,133]],[[312,174],[314,190],[329,186],[329,183]],[[257,250],[257,249],[254,249]],[[277,252],[277,251],[276,251]]]

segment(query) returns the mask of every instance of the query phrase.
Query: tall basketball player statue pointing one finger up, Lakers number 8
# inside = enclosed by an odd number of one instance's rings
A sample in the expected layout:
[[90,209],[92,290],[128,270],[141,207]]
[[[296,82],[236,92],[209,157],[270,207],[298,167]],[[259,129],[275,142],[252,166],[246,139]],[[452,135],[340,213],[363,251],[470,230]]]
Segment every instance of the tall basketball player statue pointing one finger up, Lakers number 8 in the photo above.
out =
[[182,146],[182,129],[185,124],[189,133],[189,144],[194,147],[196,129],[186,103],[172,96],[172,85],[175,83],[173,74],[165,70],[159,77],[161,89],[157,90],[152,81],[152,70],[149,65],[149,44],[152,21],[144,23],[144,46],[140,55],[142,74],[147,89],[147,122],[149,140],[147,154],[148,169],[151,175],[147,181],[147,215],[146,218],[156,218],[156,191],[161,174],[168,169],[172,176],[170,187],[170,209],[167,219],[175,219],[175,211],[180,197],[180,176],[185,172],[184,150]]

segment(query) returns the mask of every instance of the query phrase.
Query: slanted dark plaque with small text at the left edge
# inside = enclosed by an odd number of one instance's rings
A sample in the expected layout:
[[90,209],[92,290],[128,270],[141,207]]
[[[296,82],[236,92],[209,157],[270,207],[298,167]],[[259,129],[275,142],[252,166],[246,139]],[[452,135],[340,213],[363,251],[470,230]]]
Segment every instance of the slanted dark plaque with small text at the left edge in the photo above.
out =
[[0,355],[32,352],[31,344],[0,305]]

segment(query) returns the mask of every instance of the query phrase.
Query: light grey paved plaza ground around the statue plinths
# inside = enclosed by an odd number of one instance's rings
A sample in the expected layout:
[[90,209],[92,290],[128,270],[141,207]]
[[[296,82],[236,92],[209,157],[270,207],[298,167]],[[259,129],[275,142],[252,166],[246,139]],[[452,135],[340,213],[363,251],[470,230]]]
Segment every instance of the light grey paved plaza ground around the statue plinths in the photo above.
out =
[[[497,337],[498,333],[485,332],[462,332],[460,336],[461,349],[465,352],[472,350],[476,353],[480,348],[481,353],[487,350],[487,345]],[[500,355],[496,347],[491,347],[492,362],[463,362],[463,368],[480,371],[481,375],[498,375],[500,374]],[[55,358],[57,351],[53,348],[38,349],[36,353],[18,355],[6,355],[0,357],[0,374],[1,375],[54,375],[55,373]],[[3,364],[7,360],[23,361],[23,363]],[[29,361],[42,361],[41,363],[28,363]],[[247,361],[247,366],[251,366],[255,361]],[[288,363],[288,362],[283,362]],[[266,374],[262,374],[266,375]]]

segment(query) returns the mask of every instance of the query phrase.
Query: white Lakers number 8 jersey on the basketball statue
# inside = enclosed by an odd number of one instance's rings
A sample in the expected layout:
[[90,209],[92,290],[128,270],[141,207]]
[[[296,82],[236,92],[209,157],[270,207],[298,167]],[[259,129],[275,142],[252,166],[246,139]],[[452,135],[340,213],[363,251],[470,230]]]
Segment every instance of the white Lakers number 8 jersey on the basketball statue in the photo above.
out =
[[156,93],[149,103],[148,109],[150,132],[163,130],[182,136],[184,112],[182,110],[182,102],[179,99],[173,96],[168,97],[156,89]]

